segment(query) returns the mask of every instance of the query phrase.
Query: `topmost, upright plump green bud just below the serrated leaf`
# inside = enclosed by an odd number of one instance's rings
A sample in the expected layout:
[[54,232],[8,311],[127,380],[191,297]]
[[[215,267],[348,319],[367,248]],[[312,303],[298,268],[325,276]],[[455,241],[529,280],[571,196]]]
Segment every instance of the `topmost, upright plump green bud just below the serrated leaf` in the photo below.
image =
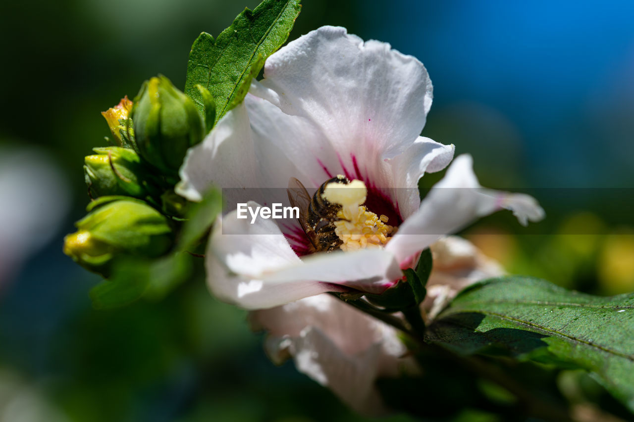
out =
[[133,121],[141,157],[168,174],[178,172],[188,148],[204,136],[193,101],[164,76],[143,84],[134,99]]

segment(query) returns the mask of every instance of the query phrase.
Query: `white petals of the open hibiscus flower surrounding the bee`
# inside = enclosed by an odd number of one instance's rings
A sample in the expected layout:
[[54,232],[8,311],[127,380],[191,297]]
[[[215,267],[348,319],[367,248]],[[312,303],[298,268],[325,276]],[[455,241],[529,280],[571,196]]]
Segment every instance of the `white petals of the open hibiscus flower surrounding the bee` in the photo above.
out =
[[398,231],[384,247],[305,255],[299,224],[251,224],[230,212],[209,238],[212,292],[247,309],[325,291],[380,293],[421,250],[477,217],[508,208],[521,222],[540,219],[533,198],[481,189],[468,155],[420,202],[418,179],[444,169],[454,152],[418,136],[431,101],[420,61],[343,28],[321,27],[270,56],[244,103],[188,152],[179,193],[200,200],[215,184],[234,188],[224,190],[228,203],[288,203],[280,188],[291,177],[314,191],[344,174],[365,184],[368,211],[389,217]]

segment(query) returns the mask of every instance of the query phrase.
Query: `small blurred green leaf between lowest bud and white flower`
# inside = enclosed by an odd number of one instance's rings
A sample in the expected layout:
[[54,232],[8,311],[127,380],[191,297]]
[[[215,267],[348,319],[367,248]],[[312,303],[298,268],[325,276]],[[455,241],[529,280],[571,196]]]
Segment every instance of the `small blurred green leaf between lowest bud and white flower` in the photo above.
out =
[[214,224],[216,216],[223,210],[223,198],[221,192],[212,188],[207,192],[202,201],[191,206],[187,214],[187,221],[183,224],[181,239],[178,243],[179,250],[190,250],[200,238],[207,233],[209,227]]

